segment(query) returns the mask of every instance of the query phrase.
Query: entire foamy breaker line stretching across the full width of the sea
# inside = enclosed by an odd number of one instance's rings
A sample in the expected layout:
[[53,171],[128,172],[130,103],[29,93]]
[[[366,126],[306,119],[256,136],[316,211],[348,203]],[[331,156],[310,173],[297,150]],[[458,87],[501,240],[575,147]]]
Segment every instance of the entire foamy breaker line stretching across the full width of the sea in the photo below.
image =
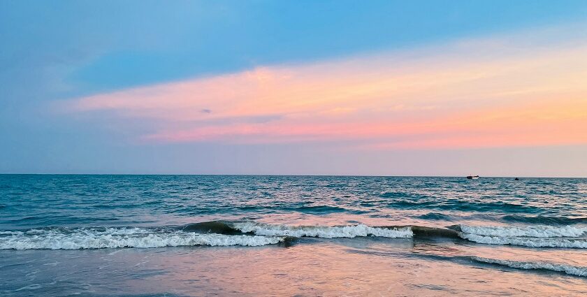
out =
[[582,226],[290,226],[244,222],[201,222],[159,228],[45,228],[0,231],[0,249],[99,249],[117,247],[259,246],[295,238],[449,238],[489,245],[587,248]]

